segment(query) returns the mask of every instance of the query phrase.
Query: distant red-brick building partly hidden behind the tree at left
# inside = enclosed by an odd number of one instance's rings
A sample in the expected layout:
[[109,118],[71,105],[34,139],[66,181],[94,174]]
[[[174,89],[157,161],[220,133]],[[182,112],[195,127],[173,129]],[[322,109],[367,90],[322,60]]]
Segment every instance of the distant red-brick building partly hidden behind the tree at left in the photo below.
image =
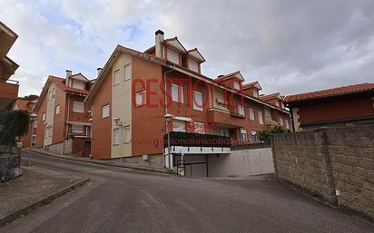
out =
[[[18,100],[15,102],[14,110],[23,110],[31,114],[34,112],[36,102],[37,100],[23,100],[21,98],[18,98]],[[35,145],[36,131],[37,131],[37,121],[33,121],[32,123],[30,123],[30,127],[27,133],[19,139],[19,141],[22,142],[23,148],[30,146],[30,140],[32,142],[32,145],[33,146]],[[33,135],[31,135],[31,133],[33,133]]]

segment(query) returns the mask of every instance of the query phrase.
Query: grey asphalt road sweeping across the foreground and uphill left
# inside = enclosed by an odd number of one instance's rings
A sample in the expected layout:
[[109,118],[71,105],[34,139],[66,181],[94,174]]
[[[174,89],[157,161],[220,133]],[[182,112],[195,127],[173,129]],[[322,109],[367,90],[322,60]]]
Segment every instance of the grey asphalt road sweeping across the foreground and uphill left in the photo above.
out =
[[374,232],[278,181],[188,179],[35,154],[91,182],[0,232]]

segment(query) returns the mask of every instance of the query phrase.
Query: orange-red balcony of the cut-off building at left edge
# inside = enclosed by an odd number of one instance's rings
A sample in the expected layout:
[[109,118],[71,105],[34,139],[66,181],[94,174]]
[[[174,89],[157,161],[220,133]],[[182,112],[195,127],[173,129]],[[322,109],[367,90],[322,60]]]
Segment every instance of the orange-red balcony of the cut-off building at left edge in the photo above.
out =
[[18,82],[0,80],[0,111],[10,109],[18,98]]

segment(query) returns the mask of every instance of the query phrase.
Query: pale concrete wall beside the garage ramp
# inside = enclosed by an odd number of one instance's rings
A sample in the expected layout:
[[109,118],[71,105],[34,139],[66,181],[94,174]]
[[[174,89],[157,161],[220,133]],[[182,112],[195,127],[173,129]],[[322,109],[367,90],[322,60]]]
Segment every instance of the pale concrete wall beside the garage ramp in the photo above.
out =
[[271,148],[231,150],[231,154],[208,156],[210,177],[248,177],[274,172]]

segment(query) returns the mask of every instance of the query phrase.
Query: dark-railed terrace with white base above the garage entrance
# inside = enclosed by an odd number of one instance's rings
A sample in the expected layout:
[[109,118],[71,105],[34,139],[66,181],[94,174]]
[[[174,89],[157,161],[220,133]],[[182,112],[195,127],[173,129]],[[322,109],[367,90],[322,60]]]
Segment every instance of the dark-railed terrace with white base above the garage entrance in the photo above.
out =
[[[164,135],[165,153],[168,153],[167,134]],[[231,152],[231,138],[193,132],[170,132],[171,153],[227,154]]]

